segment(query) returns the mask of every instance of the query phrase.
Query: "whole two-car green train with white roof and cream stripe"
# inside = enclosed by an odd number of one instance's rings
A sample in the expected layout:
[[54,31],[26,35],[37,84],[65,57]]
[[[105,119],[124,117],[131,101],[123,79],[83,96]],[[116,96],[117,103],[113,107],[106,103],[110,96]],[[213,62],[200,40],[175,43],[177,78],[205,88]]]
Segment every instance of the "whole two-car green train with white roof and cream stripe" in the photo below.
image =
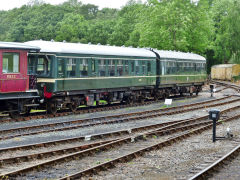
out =
[[50,113],[100,100],[132,103],[198,93],[206,78],[205,58],[191,53],[41,40],[26,44],[41,48],[29,54],[29,73],[36,74]]

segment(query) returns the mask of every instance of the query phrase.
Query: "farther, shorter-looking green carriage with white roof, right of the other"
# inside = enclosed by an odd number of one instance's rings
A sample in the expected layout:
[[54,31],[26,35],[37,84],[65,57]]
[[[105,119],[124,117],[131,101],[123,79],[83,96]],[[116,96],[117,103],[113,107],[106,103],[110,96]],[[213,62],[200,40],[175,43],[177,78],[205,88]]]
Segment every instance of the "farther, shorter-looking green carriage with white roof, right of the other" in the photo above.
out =
[[180,93],[201,91],[201,86],[207,78],[204,57],[176,51],[155,52],[160,56],[160,86],[176,87]]

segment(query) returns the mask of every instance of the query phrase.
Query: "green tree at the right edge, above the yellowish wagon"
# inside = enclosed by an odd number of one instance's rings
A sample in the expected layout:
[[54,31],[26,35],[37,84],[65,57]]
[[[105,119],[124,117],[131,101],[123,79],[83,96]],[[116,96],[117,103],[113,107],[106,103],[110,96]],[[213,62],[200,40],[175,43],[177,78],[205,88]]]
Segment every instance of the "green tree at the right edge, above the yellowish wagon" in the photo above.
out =
[[240,2],[237,0],[215,0],[213,19],[215,23],[214,50],[222,62],[240,63]]

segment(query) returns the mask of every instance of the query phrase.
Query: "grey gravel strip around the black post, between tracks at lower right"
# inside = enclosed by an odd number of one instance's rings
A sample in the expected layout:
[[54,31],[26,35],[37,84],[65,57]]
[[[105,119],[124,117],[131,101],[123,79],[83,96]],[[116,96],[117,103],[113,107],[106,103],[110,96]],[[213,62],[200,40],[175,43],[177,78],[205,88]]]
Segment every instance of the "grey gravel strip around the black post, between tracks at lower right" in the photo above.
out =
[[146,153],[129,163],[119,164],[114,169],[100,172],[92,179],[188,179],[240,143],[240,119],[217,126],[217,136],[224,136],[227,127],[234,134],[231,140],[213,143],[212,130],[208,130],[180,143]]

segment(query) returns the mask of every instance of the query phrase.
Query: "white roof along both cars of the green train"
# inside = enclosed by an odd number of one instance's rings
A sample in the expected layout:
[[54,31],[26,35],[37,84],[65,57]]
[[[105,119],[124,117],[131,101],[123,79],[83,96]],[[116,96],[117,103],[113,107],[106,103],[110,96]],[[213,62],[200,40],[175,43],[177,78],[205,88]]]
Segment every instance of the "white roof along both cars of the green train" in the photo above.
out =
[[[118,47],[108,45],[93,45],[81,43],[66,43],[35,40],[28,41],[25,44],[37,46],[42,53],[60,53],[60,54],[88,54],[103,56],[126,56],[126,57],[149,57],[155,58],[156,55],[145,48]],[[181,60],[201,60],[206,61],[203,56],[194,53],[185,53],[177,51],[154,50],[160,55],[161,59],[181,59]]]

